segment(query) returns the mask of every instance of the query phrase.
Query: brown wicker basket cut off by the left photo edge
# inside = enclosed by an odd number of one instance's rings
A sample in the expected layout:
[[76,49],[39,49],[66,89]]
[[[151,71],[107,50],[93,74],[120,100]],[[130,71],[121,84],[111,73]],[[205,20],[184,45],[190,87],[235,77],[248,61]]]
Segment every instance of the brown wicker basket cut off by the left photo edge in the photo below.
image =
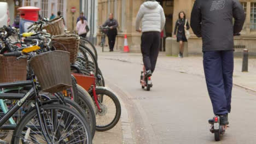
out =
[[0,83],[25,81],[27,77],[27,59],[4,57],[0,55]]

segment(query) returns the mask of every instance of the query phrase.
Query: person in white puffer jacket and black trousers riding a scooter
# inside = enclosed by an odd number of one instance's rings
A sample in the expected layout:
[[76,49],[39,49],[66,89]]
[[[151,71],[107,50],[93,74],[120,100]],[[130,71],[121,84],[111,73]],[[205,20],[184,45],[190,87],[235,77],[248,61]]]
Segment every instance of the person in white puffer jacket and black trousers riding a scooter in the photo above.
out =
[[[140,23],[142,21],[142,27]],[[155,70],[160,49],[160,33],[165,26],[165,14],[161,5],[155,0],[146,0],[139,8],[136,17],[136,31],[142,32],[141,52],[146,68],[146,77]]]

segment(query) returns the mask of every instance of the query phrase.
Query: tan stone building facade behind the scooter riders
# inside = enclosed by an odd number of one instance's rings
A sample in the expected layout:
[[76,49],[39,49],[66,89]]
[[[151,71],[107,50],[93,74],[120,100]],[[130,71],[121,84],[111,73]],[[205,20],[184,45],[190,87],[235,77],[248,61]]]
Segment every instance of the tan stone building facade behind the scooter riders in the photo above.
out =
[[[190,13],[195,0],[158,0],[165,11],[166,16],[166,37],[172,37],[174,24],[178,19],[179,11],[183,10],[190,21]],[[242,52],[249,49],[249,52],[256,54],[256,0],[240,0],[246,12],[246,22],[241,37],[235,38],[235,51]],[[132,52],[140,51],[141,34],[135,31],[135,18],[140,5],[144,0],[98,0],[98,25],[107,19],[109,13],[114,13],[115,19],[119,22],[119,34],[117,38],[117,49],[123,49],[124,34],[127,34],[128,43]],[[196,38],[191,31],[191,38],[188,43],[190,55],[201,54],[202,42]],[[98,33],[98,41],[100,34]]]

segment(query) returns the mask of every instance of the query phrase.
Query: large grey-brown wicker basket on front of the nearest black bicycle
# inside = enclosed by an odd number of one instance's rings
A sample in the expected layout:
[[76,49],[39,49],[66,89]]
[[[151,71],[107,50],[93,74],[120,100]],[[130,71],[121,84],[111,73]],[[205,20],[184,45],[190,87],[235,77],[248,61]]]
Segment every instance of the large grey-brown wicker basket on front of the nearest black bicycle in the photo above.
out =
[[69,52],[46,52],[32,57],[30,65],[44,92],[56,93],[72,87]]

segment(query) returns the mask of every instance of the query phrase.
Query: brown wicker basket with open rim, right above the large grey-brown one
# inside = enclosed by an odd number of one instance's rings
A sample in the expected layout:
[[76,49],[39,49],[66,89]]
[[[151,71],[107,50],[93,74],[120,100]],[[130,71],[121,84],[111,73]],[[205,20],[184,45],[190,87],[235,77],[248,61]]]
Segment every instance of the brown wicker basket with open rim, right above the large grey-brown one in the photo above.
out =
[[[53,46],[56,50],[61,51],[68,51],[70,52],[70,63],[75,63],[77,60],[77,53],[79,49],[79,35],[76,34],[63,34],[63,35],[56,35],[52,38]],[[57,44],[61,43],[61,44]],[[65,47],[63,47],[63,45]]]

